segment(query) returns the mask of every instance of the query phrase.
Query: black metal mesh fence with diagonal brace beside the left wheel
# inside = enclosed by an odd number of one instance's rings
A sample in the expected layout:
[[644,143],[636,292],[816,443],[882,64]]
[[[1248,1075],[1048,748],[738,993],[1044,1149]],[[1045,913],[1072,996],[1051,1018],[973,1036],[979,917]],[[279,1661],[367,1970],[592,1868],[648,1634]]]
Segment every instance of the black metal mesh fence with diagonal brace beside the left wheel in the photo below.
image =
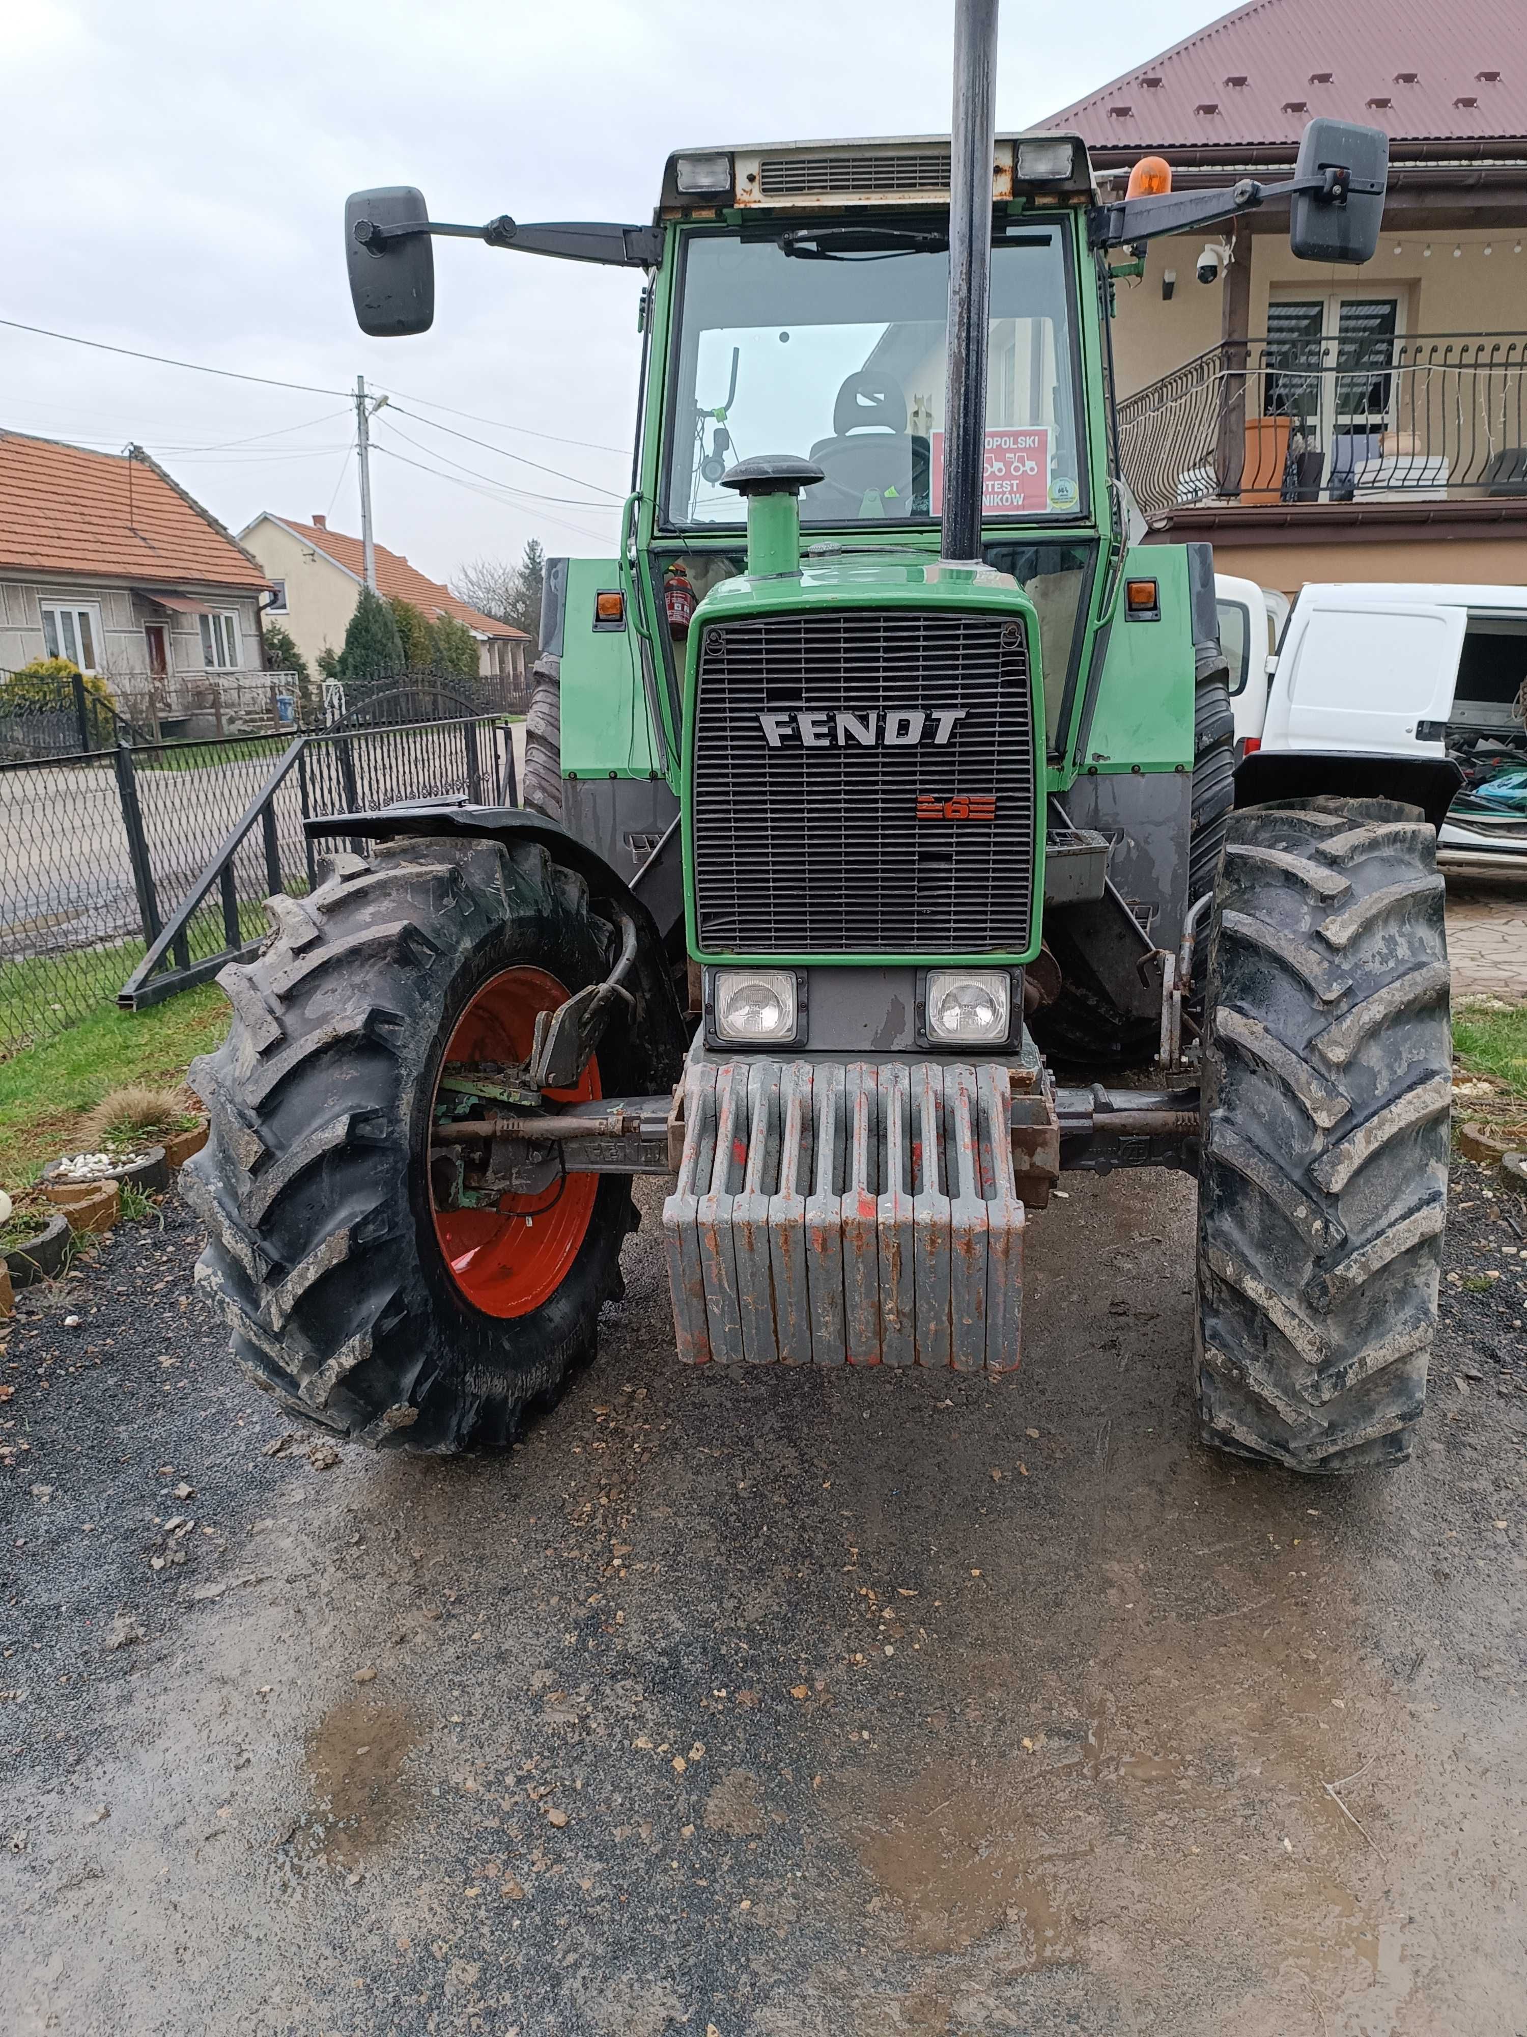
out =
[[214,976],[265,933],[271,892],[312,886],[309,815],[513,805],[511,744],[466,715],[0,764],[0,1055],[128,982],[147,1004]]

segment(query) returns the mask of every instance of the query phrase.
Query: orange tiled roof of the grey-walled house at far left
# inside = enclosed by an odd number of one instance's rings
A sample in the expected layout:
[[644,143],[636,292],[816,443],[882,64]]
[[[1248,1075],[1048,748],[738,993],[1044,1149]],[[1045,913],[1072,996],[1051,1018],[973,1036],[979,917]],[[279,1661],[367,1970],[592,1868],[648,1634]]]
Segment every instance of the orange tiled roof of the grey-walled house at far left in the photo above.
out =
[[0,432],[0,566],[267,587],[265,568],[134,446],[88,452]]

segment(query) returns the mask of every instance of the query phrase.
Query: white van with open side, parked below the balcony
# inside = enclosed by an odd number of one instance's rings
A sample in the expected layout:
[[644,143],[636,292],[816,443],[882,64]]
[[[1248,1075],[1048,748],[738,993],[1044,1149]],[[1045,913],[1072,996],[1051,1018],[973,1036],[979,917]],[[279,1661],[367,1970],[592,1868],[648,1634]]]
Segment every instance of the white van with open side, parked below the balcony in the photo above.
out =
[[[1262,725],[1250,701],[1238,707],[1236,748],[1452,756],[1476,778],[1513,756],[1527,762],[1525,705],[1527,587],[1311,583],[1272,660]],[[1527,856],[1527,827],[1480,819],[1466,794],[1437,845]]]

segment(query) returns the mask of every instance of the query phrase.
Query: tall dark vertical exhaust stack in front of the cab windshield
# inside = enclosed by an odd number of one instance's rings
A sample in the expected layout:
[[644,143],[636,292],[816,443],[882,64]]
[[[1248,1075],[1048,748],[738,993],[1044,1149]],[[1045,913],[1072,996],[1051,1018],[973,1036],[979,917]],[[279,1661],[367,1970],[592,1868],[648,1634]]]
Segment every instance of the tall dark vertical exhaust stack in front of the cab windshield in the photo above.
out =
[[949,369],[941,552],[981,558],[985,342],[992,299],[992,149],[998,0],[955,0],[955,104],[949,151]]

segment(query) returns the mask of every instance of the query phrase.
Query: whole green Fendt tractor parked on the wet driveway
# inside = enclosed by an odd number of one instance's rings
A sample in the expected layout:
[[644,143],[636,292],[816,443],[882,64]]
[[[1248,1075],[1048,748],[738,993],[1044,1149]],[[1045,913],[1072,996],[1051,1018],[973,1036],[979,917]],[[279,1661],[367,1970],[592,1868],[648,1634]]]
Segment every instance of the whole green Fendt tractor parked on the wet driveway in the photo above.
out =
[[350,200],[369,334],[430,326],[434,234],[643,271],[641,411],[617,556],[548,570],[525,805],[309,823],[318,886],[222,976],[187,1192],[287,1412],[509,1440],[637,1173],[680,1359],[1000,1373],[1030,1212],[1148,1165],[1199,1183],[1205,1440],[1407,1456],[1456,774],[1234,766],[1211,556],[1134,542],[1110,389],[1110,257],[1287,200],[1366,261],[1387,143],[1104,198],[1077,136],[994,134],[994,57],[959,0],[953,141],[682,149],[652,226]]

